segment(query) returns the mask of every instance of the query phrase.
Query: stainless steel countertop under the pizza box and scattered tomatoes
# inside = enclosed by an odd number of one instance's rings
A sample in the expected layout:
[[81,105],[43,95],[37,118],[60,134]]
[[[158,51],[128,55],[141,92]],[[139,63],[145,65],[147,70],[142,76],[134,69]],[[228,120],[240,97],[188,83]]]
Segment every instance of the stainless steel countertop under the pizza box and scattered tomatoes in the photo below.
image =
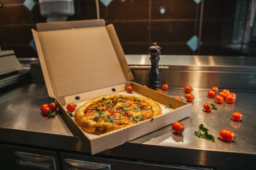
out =
[[[99,155],[160,161],[174,164],[223,168],[253,168],[256,166],[256,110],[255,91],[232,91],[237,94],[233,104],[217,104],[207,97],[209,89],[194,89],[195,100],[191,117],[183,119],[185,132],[174,135],[171,125],[104,151]],[[181,88],[169,88],[164,93],[184,96]],[[31,146],[67,151],[89,152],[86,143],[72,131],[65,119],[57,115],[48,119],[41,114],[43,103],[53,102],[45,85],[28,84],[0,93],[0,140]],[[218,111],[205,113],[204,103],[214,103]],[[245,115],[242,122],[230,120],[233,112]],[[203,123],[215,136],[215,142],[200,139],[194,135]],[[218,132],[230,129],[236,133],[234,143],[219,140]],[[49,142],[51,141],[51,142]],[[242,157],[241,157],[242,156]],[[236,165],[234,165],[236,163]]]

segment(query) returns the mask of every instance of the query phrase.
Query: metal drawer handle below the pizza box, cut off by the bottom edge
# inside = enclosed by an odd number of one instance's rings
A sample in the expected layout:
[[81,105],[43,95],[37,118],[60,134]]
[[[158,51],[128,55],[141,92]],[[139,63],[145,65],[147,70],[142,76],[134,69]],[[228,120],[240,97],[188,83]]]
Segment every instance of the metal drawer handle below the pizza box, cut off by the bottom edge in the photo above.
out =
[[99,164],[73,159],[64,159],[64,162],[69,166],[67,169],[79,168],[81,170],[110,170],[110,165],[107,164]]

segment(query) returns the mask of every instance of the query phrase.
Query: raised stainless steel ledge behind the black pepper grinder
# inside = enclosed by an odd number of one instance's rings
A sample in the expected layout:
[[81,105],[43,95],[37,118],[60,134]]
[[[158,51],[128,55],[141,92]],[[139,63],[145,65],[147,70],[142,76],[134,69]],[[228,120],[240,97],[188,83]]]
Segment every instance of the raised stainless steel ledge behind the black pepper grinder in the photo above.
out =
[[[126,55],[130,67],[151,66],[150,55]],[[169,70],[206,71],[256,71],[256,57],[250,56],[204,56],[160,55],[159,66]],[[165,67],[167,66],[167,67]],[[148,68],[147,68],[148,69]],[[161,69],[161,68],[160,68]]]

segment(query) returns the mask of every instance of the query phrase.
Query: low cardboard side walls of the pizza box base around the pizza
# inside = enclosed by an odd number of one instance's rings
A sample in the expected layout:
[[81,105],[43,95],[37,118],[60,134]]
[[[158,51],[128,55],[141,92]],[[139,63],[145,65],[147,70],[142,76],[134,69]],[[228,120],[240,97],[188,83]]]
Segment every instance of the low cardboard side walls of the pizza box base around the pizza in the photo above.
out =
[[[143,96],[149,96],[148,90],[151,92],[151,89],[146,88],[142,85],[139,85],[135,82],[131,82],[132,86],[134,88],[134,91],[138,92],[139,94]],[[137,124],[133,124],[130,126],[126,126],[122,129],[118,129],[109,133],[105,133],[102,135],[99,135],[93,139],[88,139],[85,134],[83,133],[84,130],[78,126],[73,119],[65,112],[65,110],[62,108],[60,103],[57,99],[57,104],[59,108],[61,108],[62,113],[64,113],[64,117],[70,124],[70,126],[73,128],[73,130],[77,133],[77,135],[81,138],[83,142],[86,143],[88,147],[90,147],[91,154],[97,154],[102,151],[114,148],[116,146],[122,145],[127,141],[130,141],[132,139],[138,138],[140,136],[143,136],[147,133],[153,132],[157,129],[160,129],[164,126],[167,126],[169,124],[172,124],[176,121],[182,120],[186,117],[189,117],[191,115],[191,107],[192,105],[186,102],[183,102],[181,100],[177,100],[173,97],[170,97],[165,94],[161,94],[157,91],[155,91],[156,94],[154,95],[154,99],[164,98],[165,103],[175,105],[177,108],[174,108],[170,110],[170,112],[159,115],[153,119],[153,121],[142,121]],[[62,98],[60,98],[62,100]],[[157,101],[157,100],[156,100]],[[160,102],[160,101],[158,101]],[[160,102],[162,103],[162,102]],[[118,140],[117,140],[118,139]]]

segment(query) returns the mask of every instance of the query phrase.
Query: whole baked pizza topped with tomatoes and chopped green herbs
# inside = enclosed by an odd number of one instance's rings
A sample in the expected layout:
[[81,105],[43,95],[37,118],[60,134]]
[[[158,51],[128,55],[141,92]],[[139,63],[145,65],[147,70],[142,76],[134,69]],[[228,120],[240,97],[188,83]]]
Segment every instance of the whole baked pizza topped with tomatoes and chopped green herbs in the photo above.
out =
[[160,115],[162,109],[150,98],[132,95],[105,95],[76,109],[74,121],[83,130],[103,134]]

